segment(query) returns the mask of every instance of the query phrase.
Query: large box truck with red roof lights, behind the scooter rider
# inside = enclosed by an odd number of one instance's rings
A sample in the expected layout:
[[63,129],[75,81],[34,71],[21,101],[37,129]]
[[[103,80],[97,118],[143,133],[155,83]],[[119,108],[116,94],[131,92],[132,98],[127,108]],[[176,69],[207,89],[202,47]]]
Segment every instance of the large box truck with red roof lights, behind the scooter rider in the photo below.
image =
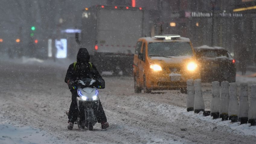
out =
[[82,13],[81,39],[99,72],[132,74],[136,41],[143,37],[142,8],[97,5]]

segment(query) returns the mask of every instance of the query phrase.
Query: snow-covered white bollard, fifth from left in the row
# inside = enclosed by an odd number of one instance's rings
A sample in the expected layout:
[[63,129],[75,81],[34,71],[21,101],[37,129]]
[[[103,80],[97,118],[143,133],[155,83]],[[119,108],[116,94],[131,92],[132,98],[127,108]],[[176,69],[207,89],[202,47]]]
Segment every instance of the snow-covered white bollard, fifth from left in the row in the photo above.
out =
[[237,100],[237,84],[235,82],[229,83],[229,120],[232,123],[238,120],[239,105]]

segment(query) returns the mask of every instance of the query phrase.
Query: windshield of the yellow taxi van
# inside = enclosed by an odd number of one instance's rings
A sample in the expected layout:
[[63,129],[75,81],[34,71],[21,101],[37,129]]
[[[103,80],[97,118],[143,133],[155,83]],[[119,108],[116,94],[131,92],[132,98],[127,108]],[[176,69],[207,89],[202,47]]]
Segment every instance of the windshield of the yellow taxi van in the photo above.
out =
[[187,42],[149,43],[149,56],[192,56],[193,52]]

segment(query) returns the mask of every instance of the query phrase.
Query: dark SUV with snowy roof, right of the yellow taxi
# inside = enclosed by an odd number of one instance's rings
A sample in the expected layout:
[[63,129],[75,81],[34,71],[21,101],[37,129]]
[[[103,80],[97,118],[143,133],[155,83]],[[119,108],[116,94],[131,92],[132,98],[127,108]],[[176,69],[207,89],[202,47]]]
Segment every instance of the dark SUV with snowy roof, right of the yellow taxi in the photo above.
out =
[[200,46],[194,48],[197,61],[200,63],[200,74],[203,82],[235,82],[235,59],[222,47]]

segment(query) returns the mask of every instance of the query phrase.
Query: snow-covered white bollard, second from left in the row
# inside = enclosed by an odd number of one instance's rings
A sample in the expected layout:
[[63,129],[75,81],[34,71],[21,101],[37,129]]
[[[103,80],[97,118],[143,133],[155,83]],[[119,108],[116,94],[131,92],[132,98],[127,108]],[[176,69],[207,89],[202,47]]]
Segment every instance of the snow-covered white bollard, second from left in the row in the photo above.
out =
[[194,81],[195,88],[195,99],[194,99],[194,112],[199,113],[200,111],[204,111],[204,101],[202,95],[202,81],[200,79],[196,79]]

